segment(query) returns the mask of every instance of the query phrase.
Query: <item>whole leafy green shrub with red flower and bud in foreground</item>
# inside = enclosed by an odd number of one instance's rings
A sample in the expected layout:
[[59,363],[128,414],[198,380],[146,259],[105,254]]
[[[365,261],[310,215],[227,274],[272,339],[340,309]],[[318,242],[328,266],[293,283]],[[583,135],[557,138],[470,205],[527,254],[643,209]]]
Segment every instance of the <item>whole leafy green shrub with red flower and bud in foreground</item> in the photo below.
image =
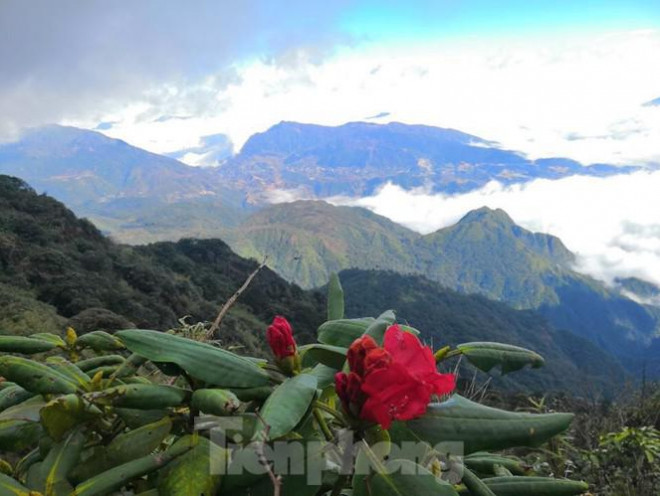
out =
[[539,355],[497,343],[433,353],[419,331],[395,324],[392,311],[344,319],[336,279],[329,301],[316,343],[299,347],[290,324],[275,319],[267,331],[273,363],[207,343],[203,327],[190,324],[185,337],[139,329],[0,337],[0,491],[568,496],[587,489],[494,453],[545,443],[571,414],[485,407],[450,395],[453,375],[436,369],[463,356],[505,373],[541,366]]

